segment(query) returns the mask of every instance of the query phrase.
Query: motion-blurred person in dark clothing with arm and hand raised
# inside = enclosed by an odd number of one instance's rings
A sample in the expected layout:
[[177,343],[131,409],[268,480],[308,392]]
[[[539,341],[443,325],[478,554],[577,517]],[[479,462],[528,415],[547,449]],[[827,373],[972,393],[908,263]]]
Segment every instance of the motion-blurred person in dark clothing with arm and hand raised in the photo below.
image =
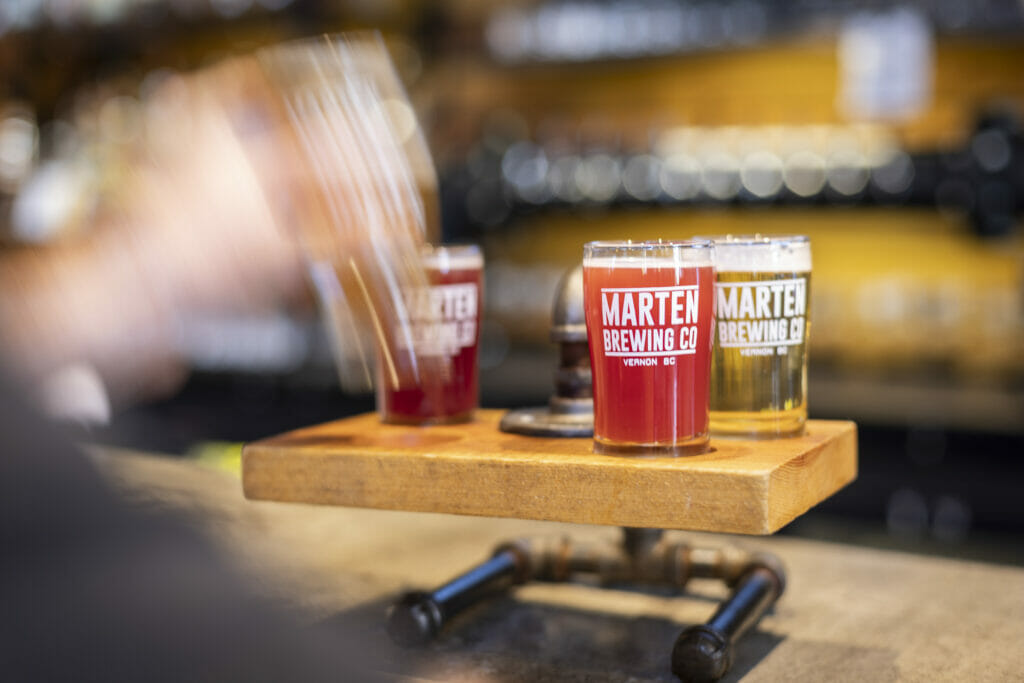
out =
[[4,680],[374,678],[355,630],[300,629],[253,597],[195,529],[117,499],[25,400],[36,393],[25,387],[74,367],[119,402],[172,390],[182,321],[294,302],[316,259],[369,283],[375,314],[393,294],[375,283],[416,280],[402,268],[418,264],[407,258],[423,237],[417,201],[385,191],[408,185],[394,184],[408,175],[400,157],[375,159],[336,129],[323,139],[339,145],[325,176],[287,109],[253,58],[171,79],[150,102],[116,210],[73,244],[0,261]]

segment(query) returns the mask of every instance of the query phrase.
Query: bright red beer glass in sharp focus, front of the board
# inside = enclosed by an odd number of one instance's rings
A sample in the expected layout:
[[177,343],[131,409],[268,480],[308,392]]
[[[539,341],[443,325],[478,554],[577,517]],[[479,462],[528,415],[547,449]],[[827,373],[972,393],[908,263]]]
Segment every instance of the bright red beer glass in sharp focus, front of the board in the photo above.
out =
[[707,450],[713,259],[708,241],[584,247],[596,452]]

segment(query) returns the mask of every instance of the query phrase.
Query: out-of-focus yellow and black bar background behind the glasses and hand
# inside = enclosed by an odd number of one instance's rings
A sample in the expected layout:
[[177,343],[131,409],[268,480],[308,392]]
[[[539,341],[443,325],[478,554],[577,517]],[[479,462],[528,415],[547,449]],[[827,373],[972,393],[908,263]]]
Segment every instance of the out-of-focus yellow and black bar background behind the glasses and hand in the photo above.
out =
[[[88,239],[169,74],[367,28],[484,248],[484,405],[546,402],[584,242],[807,233],[811,417],[861,472],[783,532],[1024,564],[1024,3],[4,0],[0,250]],[[181,391],[82,438],[230,467],[373,410],[311,301],[202,321]]]

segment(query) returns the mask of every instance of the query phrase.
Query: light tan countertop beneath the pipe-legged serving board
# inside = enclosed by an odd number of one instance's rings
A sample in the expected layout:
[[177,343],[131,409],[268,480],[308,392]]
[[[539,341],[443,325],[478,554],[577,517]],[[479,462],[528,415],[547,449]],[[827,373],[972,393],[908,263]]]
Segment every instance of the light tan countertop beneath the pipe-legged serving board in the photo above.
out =
[[[310,622],[361,617],[399,681],[674,681],[676,636],[726,593],[699,580],[681,597],[526,586],[460,618],[428,648],[400,650],[384,633],[400,591],[433,588],[503,540],[617,529],[257,503],[243,498],[237,476],[195,463],[120,452],[97,461],[129,499],[194,515],[263,594]],[[740,641],[725,680],[1024,677],[1024,569],[792,538],[680,537],[769,551],[787,567],[786,593]]]

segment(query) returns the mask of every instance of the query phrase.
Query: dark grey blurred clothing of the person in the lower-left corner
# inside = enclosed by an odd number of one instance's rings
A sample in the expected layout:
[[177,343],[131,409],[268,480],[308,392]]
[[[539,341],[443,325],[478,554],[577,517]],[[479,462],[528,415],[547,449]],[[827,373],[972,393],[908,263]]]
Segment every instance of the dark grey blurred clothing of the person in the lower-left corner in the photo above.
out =
[[195,527],[116,497],[0,374],[0,678],[378,680],[364,625],[304,624]]

